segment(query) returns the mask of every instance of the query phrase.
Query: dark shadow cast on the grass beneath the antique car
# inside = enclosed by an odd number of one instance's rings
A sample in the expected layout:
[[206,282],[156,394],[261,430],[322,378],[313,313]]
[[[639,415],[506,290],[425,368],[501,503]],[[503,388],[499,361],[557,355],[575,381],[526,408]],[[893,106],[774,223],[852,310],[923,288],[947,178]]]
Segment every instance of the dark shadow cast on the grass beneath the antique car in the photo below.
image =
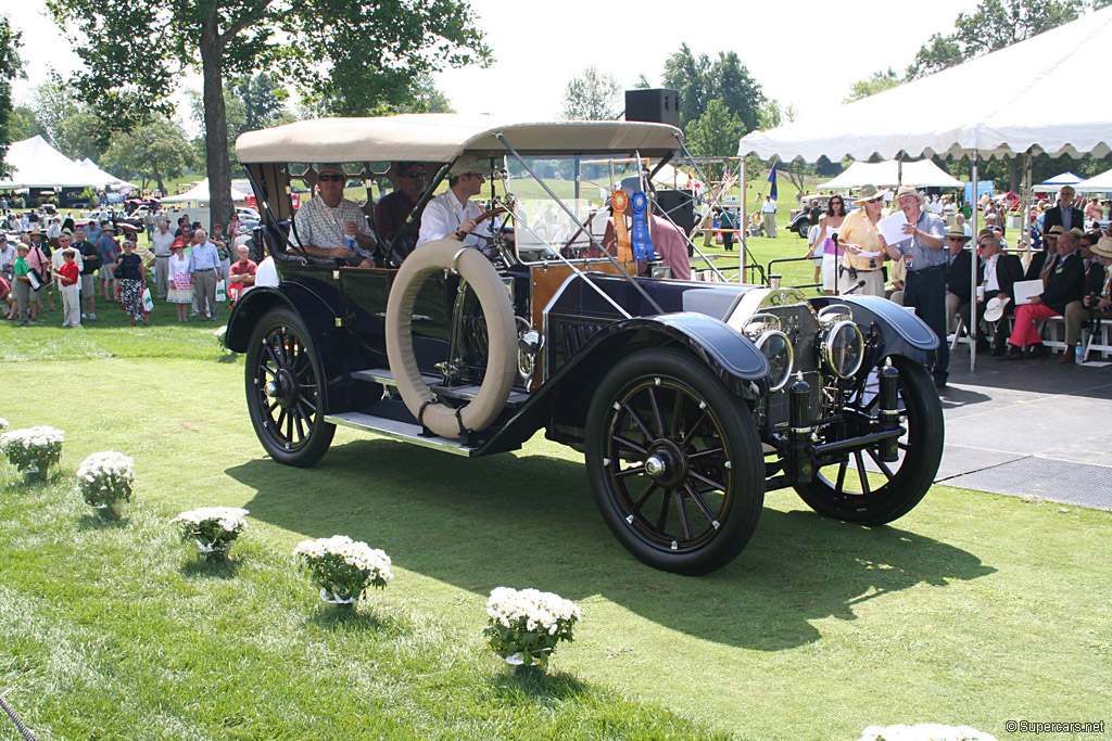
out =
[[312,469],[259,459],[227,472],[256,490],[246,504],[254,518],[307,538],[364,540],[399,567],[477,595],[499,585],[599,594],[674,630],[757,650],[813,642],[815,621],[853,620],[865,600],[995,571],[898,527],[766,508],[726,568],[664,573],[614,539],[582,463],[545,455],[463,459],[368,439],[334,447]]

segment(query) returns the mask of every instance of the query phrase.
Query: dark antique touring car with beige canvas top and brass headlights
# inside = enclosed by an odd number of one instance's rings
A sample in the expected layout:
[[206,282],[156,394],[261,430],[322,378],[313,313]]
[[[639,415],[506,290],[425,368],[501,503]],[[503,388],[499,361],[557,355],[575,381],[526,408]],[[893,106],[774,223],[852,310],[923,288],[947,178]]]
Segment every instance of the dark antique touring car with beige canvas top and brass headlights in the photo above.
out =
[[[766,490],[882,524],[934,479],[943,422],[923,362],[939,340],[916,317],[872,297],[671,280],[647,253],[602,249],[618,183],[637,200],[685,151],[673,127],[407,114],[301,121],[236,148],[278,279],[240,300],[227,344],[246,353],[250,420],[276,461],[314,464],[337,424],[469,457],[544,429],[585,453],[622,544],[686,574],[744,548]],[[299,246],[291,188],[311,189],[320,163],[345,163],[368,203],[391,162],[424,163],[413,218],[460,158],[489,181],[495,227],[478,247],[437,240],[401,259],[401,237],[378,233],[377,267],[349,268]]]

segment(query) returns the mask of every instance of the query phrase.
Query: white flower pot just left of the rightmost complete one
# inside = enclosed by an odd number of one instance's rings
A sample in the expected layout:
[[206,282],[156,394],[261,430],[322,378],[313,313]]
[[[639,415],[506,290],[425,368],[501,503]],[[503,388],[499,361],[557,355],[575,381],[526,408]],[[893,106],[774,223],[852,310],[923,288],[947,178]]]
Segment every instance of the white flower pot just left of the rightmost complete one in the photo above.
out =
[[329,602],[353,603],[368,588],[385,589],[394,579],[385,551],[347,535],[302,540],[294,555],[320,587],[321,599]]

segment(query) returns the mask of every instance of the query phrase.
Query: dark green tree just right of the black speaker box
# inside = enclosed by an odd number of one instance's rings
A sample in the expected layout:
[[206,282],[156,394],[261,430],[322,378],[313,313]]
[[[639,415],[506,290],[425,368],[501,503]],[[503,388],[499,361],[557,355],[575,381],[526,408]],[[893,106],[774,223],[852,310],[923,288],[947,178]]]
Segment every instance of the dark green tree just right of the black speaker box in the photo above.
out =
[[764,93],[734,51],[718,52],[712,61],[706,54],[696,57],[684,43],[664,62],[664,86],[679,91],[679,126],[688,136],[687,124],[699,119],[712,100],[721,100],[742,122],[743,134],[761,122]]

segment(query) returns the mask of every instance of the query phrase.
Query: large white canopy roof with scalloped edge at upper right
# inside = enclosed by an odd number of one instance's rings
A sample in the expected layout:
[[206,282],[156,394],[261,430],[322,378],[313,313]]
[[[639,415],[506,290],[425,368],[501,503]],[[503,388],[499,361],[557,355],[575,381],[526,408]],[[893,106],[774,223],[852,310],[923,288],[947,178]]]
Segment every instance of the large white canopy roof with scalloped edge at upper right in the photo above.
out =
[[1112,7],[898,88],[754,131],[738,153],[807,162],[974,150],[1103,157],[1112,151],[1112,99],[1093,94],[1092,71],[1106,66],[1109,48]]

